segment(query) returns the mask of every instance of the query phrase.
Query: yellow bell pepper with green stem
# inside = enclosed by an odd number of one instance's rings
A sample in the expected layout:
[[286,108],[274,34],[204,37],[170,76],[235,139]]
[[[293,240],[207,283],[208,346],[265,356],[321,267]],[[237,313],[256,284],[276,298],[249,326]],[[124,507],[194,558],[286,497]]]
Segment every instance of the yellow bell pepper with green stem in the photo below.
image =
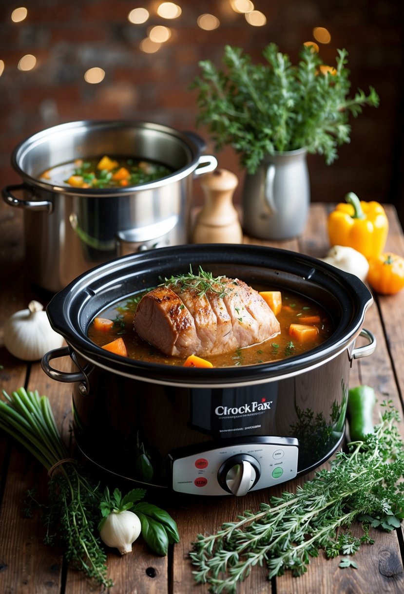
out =
[[359,200],[354,192],[345,196],[346,204],[337,204],[328,217],[331,245],[346,245],[367,259],[377,257],[386,245],[389,221],[378,202]]

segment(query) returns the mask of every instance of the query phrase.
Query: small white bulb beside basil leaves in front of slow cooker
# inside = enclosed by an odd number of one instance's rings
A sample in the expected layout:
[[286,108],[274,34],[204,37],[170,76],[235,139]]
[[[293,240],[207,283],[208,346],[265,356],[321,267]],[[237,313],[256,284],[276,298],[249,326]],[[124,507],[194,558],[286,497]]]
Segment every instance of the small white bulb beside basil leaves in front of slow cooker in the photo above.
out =
[[111,511],[102,522],[100,536],[107,546],[117,548],[121,555],[132,551],[142,530],[139,518],[133,511]]

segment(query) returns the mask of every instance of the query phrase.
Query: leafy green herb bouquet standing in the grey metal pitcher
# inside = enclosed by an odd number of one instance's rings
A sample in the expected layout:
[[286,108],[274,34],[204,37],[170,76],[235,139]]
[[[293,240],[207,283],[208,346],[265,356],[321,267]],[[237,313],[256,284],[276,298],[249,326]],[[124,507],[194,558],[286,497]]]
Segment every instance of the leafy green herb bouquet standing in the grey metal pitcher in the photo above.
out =
[[303,46],[297,66],[271,43],[262,52],[267,64],[252,64],[240,48],[225,47],[225,70],[201,61],[197,124],[207,125],[216,150],[230,145],[241,165],[255,173],[262,159],[275,152],[306,149],[325,156],[329,165],[337,147],[350,141],[350,114],[363,106],[377,107],[379,96],[350,90],[347,51],[338,50],[335,68],[323,64],[312,48]]

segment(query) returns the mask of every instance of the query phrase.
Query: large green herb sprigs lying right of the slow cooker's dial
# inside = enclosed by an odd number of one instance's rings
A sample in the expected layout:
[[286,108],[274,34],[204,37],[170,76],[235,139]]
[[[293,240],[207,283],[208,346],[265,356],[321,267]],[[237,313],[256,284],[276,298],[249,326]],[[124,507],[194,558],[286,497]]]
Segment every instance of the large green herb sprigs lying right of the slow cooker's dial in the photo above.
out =
[[[214,534],[198,535],[190,552],[195,580],[209,583],[214,594],[235,593],[254,565],[267,563],[268,579],[287,569],[300,576],[320,549],[329,558],[354,554],[361,544],[373,543],[370,526],[399,527],[404,518],[404,444],[396,426],[398,413],[390,402],[385,406],[374,433],[349,444],[348,453],[339,451],[331,470],[320,470],[296,493],[272,497],[259,511],[245,511]],[[363,523],[361,538],[349,531],[336,535],[354,520]]]

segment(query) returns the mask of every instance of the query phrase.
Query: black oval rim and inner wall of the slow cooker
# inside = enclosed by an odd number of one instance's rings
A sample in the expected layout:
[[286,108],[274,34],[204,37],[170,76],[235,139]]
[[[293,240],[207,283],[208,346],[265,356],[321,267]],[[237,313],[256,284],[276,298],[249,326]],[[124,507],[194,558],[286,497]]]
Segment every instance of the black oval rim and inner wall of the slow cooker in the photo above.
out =
[[[339,326],[322,345],[302,355],[264,364],[211,369],[136,361],[109,353],[88,339],[86,329],[92,318],[110,303],[130,294],[127,280],[142,274],[145,282],[145,274],[151,274],[151,271],[156,273],[170,262],[175,263],[171,266],[182,264],[188,270],[190,261],[198,261],[201,257],[206,263],[220,264],[223,261],[223,266],[240,263],[245,268],[254,263],[255,267],[271,270],[278,276],[284,274],[286,277],[288,274],[302,277],[302,281],[309,282],[313,289],[320,287],[320,283],[322,286],[329,285],[326,290],[336,293],[337,301],[346,300],[341,303]],[[185,264],[186,261],[188,264]],[[268,263],[272,263],[271,268]],[[279,267],[280,264],[283,266]],[[146,283],[145,286],[149,285]],[[119,290],[122,290],[120,296],[117,295]],[[100,305],[102,299],[106,299],[111,292],[115,292],[116,297],[108,298]],[[198,244],[187,245],[185,250],[184,246],[173,246],[130,254],[92,268],[54,295],[47,307],[47,315],[51,326],[65,337],[72,350],[77,350],[87,361],[101,368],[175,386],[192,384],[194,387],[225,387],[271,381],[325,364],[354,343],[361,331],[365,311],[372,302],[370,291],[360,279],[309,255],[258,245]]]

